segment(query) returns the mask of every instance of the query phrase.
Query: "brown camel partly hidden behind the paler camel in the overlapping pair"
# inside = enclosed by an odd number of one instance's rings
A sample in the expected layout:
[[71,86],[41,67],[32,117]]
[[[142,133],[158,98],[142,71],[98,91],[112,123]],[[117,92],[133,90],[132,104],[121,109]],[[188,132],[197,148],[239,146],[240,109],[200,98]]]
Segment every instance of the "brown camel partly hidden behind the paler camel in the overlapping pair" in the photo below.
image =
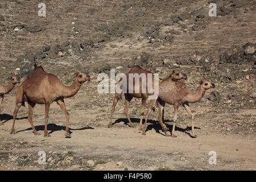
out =
[[[141,67],[139,67],[138,65],[133,66],[130,71],[128,73],[125,74],[126,76],[126,80],[127,80],[127,85],[128,81],[129,81],[129,73],[138,73],[138,75],[141,75],[142,73],[144,73],[146,75],[146,79],[148,77],[148,74],[152,74],[150,71],[144,70]],[[164,80],[170,80],[170,81],[177,81],[177,80],[181,80],[181,79],[185,79],[187,80],[187,75],[185,75],[185,73],[182,73],[180,71],[174,70],[171,75],[167,78],[164,78]],[[122,81],[122,78],[118,81],[120,82]],[[131,123],[131,119],[129,117],[128,114],[128,109],[129,109],[129,105],[130,105],[130,101],[133,99],[133,97],[135,98],[142,98],[142,102],[141,102],[141,120],[139,122],[139,130],[142,130],[142,119],[143,119],[143,115],[144,115],[144,107],[146,105],[146,101],[148,96],[150,96],[151,94],[148,93],[148,85],[147,85],[147,80],[146,80],[146,93],[142,93],[142,79],[139,79],[139,93],[135,93],[135,82],[133,82],[133,93],[129,93],[129,86],[127,86],[127,93],[125,93],[125,108],[123,110],[123,112],[125,113],[129,123],[130,123],[130,127],[134,127],[133,123]],[[154,88],[154,75],[152,75],[152,88]],[[113,113],[115,110],[115,106],[117,105],[117,102],[120,100],[121,98],[121,94],[122,93],[117,93],[115,92],[115,97],[114,97],[114,102],[112,105],[112,110],[111,110],[111,115],[110,115],[110,122],[108,127],[112,126],[112,118],[113,118]]]

